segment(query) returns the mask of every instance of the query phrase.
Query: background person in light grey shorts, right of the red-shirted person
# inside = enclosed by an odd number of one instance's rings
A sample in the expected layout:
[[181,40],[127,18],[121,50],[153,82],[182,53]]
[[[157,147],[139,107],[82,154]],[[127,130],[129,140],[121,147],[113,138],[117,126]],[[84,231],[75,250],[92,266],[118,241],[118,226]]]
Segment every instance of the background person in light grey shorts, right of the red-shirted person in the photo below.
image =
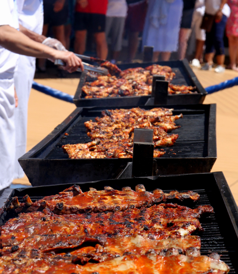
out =
[[121,51],[126,13],[126,0],[108,0],[105,32],[107,39],[111,35],[112,63],[116,63]]

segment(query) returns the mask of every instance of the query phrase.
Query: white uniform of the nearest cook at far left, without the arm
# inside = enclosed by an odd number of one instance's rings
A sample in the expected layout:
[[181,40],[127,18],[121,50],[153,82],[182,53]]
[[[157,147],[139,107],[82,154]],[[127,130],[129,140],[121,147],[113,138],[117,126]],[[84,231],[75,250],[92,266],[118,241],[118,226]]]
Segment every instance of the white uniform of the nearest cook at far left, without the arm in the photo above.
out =
[[[0,26],[19,28],[16,2],[0,1]],[[0,46],[0,190],[13,180],[15,155],[14,71],[17,54]]]

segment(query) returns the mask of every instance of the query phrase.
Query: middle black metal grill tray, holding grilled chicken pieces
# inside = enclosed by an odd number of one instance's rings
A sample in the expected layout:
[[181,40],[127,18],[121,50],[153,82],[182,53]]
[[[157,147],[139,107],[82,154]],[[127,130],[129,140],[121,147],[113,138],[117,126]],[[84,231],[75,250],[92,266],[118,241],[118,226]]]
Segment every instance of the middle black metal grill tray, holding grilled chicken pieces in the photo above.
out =
[[[168,106],[181,128],[173,131],[179,138],[174,146],[163,148],[166,154],[157,158],[158,174],[209,172],[216,160],[216,105]],[[126,107],[131,108],[131,107]],[[144,109],[152,109],[145,106]],[[113,109],[113,108],[112,108]],[[116,108],[114,108],[116,109]],[[55,130],[19,159],[32,186],[89,182],[115,178],[132,159],[68,159],[61,146],[86,143],[84,122],[101,115],[103,108],[78,108]],[[66,137],[64,133],[69,135]],[[171,151],[173,149],[173,151]],[[176,154],[173,154],[176,153]],[[156,174],[154,174],[156,175]]]

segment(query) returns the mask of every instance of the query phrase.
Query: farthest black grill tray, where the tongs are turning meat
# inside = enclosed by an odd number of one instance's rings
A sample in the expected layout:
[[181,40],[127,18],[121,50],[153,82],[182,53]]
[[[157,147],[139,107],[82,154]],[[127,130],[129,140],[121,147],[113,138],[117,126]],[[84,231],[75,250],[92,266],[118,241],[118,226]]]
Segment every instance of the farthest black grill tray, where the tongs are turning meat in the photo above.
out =
[[[128,68],[143,67],[146,68],[154,63],[129,63],[121,64],[118,67],[121,70]],[[198,81],[194,72],[189,66],[186,59],[182,61],[166,61],[166,62],[156,62],[155,64],[170,66],[173,72],[176,73],[176,77],[172,80],[173,84],[185,84],[196,86],[196,91],[198,94],[177,94],[168,95],[168,105],[186,105],[186,104],[202,104],[207,92]],[[82,73],[80,77],[80,82],[77,87],[74,104],[77,107],[108,107],[108,106],[143,106],[151,98],[150,96],[130,96],[130,97],[107,97],[107,98],[91,98],[85,99],[82,97],[82,87],[84,86],[87,79],[86,73]]]

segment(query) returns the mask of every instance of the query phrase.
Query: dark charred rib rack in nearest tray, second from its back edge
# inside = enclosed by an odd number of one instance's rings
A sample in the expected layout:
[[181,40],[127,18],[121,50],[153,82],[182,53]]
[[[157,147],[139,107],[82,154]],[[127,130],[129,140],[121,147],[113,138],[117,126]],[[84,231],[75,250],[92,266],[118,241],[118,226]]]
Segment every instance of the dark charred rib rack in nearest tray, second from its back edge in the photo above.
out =
[[2,247],[19,246],[35,235],[78,235],[128,237],[135,234],[162,240],[202,231],[199,218],[213,213],[211,206],[190,209],[177,204],[159,204],[150,208],[119,212],[58,215],[49,210],[21,213],[1,227]]

